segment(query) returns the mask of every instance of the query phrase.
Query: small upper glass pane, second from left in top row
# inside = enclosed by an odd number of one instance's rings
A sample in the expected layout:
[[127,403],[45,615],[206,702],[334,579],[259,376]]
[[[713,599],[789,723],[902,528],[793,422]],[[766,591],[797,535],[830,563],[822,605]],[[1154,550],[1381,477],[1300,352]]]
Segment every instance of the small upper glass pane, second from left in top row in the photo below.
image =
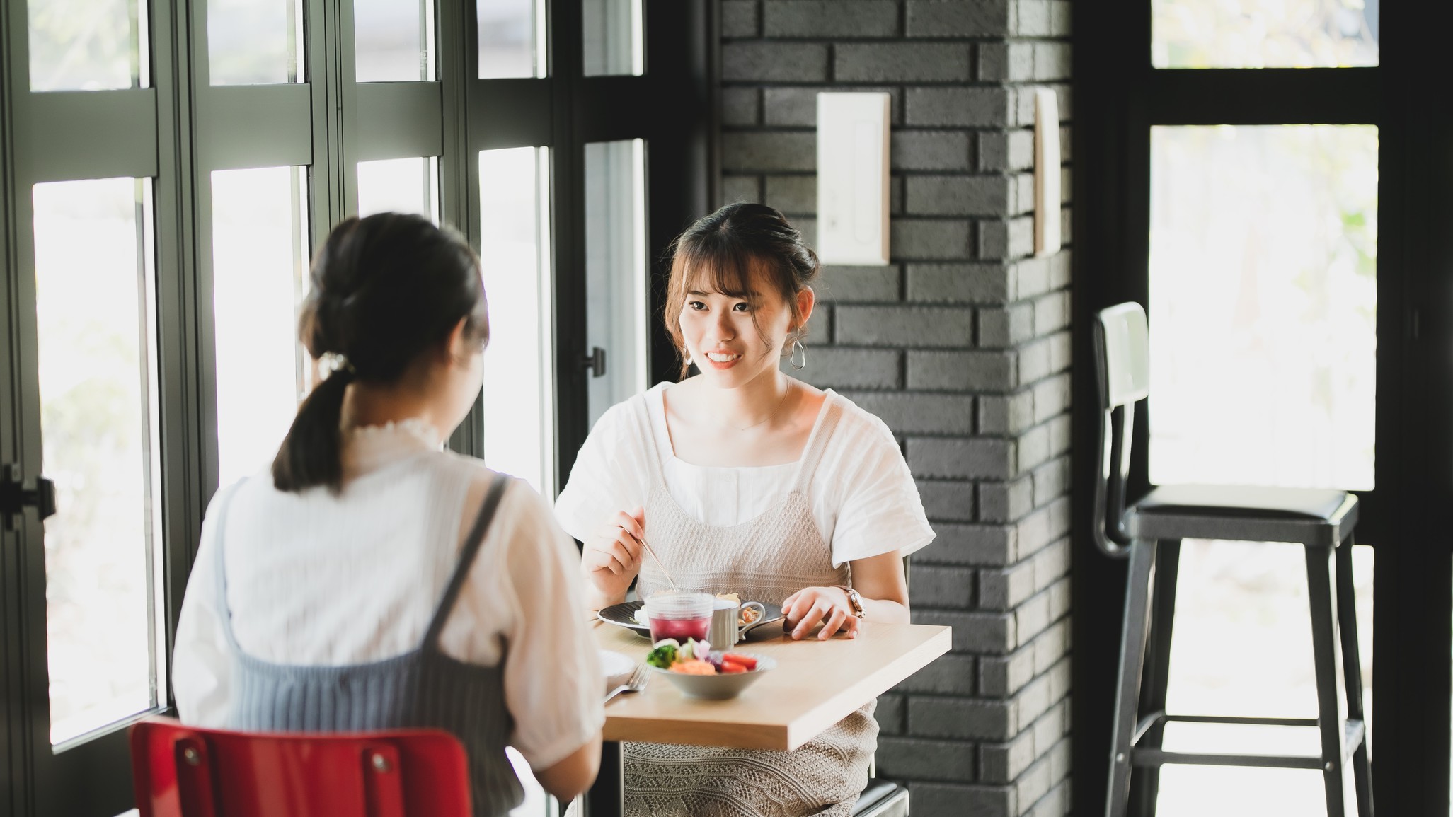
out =
[[214,86],[301,83],[302,0],[206,0]]

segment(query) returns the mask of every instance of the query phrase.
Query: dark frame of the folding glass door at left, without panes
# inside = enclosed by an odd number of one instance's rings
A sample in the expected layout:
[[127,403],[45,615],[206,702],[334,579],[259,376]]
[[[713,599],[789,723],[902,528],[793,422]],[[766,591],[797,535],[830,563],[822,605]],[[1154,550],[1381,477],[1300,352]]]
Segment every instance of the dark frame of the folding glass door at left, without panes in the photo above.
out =
[[[304,83],[208,84],[205,0],[151,0],[151,87],[29,90],[28,4],[0,13],[0,461],[41,473],[31,187],[42,181],[151,177],[155,208],[161,414],[163,611],[170,656],[202,517],[218,489],[212,318],[211,173],[304,165],[309,235],[356,210],[356,163],[437,155],[440,219],[478,250],[478,152],[548,147],[554,270],[556,482],[587,428],[584,178],[587,141],[648,142],[647,248],[652,313],[663,253],[712,199],[713,0],[647,0],[647,73],[581,77],[580,0],[546,1],[545,78],[479,80],[475,4],[434,1],[437,80],[355,83],[352,4],[305,0]],[[189,26],[189,28],[186,28]],[[661,100],[671,100],[670,104]],[[652,321],[651,380],[674,376]],[[452,448],[482,454],[482,402]],[[545,486],[542,486],[545,488]],[[549,486],[558,490],[559,485]],[[49,743],[44,528],[26,512],[0,531],[0,811],[110,817],[132,807],[121,721],[55,753]],[[170,663],[170,662],[169,662]],[[158,679],[170,713],[170,678]],[[138,715],[139,717],[139,715]],[[132,718],[134,720],[134,718]],[[84,781],[84,785],[78,785]]]

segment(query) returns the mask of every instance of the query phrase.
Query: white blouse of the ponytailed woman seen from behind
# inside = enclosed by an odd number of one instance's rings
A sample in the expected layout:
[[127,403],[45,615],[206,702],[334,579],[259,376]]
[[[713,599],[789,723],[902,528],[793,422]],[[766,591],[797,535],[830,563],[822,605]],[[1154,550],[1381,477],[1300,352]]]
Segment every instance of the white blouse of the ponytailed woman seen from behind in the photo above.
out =
[[[420,646],[494,472],[439,450],[417,421],[355,431],[344,489],[238,483],[227,512],[227,604],[243,652],[273,663],[376,662]],[[472,493],[472,496],[471,496]],[[218,493],[221,496],[221,492]],[[472,505],[472,506],[466,506]],[[216,598],[215,508],[187,580],[171,666],[182,720],[227,723],[231,652]],[[468,515],[468,520],[465,520]],[[604,681],[580,554],[529,485],[511,480],[440,633],[440,649],[504,665],[510,744],[552,766],[604,723]]]

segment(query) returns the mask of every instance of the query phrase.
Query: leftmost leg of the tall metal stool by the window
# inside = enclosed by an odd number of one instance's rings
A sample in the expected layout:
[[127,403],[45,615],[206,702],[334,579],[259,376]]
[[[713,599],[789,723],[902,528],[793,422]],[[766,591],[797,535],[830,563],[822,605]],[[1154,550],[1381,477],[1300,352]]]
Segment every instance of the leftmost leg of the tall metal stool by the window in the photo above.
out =
[[1149,596],[1154,566],[1155,543],[1135,540],[1130,544],[1130,572],[1125,591],[1125,625],[1120,630],[1120,679],[1114,695],[1110,791],[1106,797],[1107,817],[1123,817],[1130,794],[1130,740],[1135,737],[1141,672],[1145,665],[1145,640],[1151,628]]

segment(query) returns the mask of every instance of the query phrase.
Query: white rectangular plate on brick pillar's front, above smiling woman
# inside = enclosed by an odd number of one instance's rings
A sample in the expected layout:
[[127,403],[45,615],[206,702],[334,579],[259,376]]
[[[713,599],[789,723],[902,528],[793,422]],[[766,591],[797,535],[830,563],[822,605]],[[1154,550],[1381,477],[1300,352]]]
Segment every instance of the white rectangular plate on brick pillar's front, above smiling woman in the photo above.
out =
[[888,264],[886,93],[818,94],[818,241],[824,264]]

